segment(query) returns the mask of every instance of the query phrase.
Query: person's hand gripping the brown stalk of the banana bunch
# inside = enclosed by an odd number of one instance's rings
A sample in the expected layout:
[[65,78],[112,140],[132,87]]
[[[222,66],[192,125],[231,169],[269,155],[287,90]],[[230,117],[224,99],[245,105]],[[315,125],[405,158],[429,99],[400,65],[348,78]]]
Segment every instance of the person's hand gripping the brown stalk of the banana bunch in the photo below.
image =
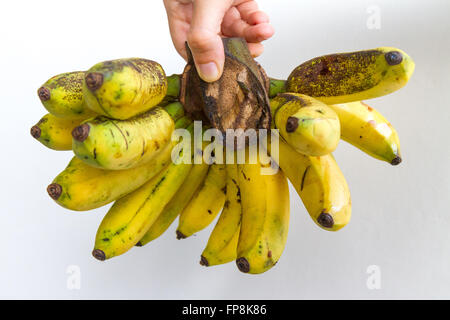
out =
[[241,37],[254,57],[262,41],[274,34],[266,13],[253,0],[164,0],[173,44],[187,60],[185,41],[192,51],[200,77],[220,78],[225,61],[222,37]]

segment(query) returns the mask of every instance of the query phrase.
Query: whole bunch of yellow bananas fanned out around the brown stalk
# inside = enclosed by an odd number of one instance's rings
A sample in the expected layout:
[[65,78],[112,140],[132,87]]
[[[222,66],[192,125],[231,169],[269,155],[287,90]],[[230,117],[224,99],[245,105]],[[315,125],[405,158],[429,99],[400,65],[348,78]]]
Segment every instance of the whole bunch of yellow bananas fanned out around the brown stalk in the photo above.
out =
[[[287,80],[267,78],[270,126],[279,133],[275,174],[262,173],[268,164],[259,157],[207,163],[192,161],[204,144],[193,152],[177,149],[175,129],[193,133],[198,114],[182,103],[183,75],[166,76],[157,62],[140,58],[50,78],[38,89],[49,113],[31,135],[75,154],[47,188],[56,203],[86,211],[115,201],[97,231],[98,260],[146,245],[177,217],[183,239],[220,213],[200,263],[235,260],[242,272],[262,273],[286,243],[288,180],[313,221],[336,231],[351,216],[349,188],[332,156],[339,140],[392,165],[401,162],[397,132],[362,100],[403,87],[413,70],[405,52],[382,47],[317,57]],[[239,88],[251,91],[240,82]]]

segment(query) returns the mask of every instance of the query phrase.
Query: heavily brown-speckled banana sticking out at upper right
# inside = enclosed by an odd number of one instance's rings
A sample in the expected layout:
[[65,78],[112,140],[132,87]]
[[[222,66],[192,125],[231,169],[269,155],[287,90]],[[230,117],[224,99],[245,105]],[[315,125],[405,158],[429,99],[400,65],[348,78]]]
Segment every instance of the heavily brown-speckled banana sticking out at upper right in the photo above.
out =
[[295,68],[287,79],[286,91],[326,104],[361,101],[402,88],[413,72],[413,60],[397,48],[330,54]]

